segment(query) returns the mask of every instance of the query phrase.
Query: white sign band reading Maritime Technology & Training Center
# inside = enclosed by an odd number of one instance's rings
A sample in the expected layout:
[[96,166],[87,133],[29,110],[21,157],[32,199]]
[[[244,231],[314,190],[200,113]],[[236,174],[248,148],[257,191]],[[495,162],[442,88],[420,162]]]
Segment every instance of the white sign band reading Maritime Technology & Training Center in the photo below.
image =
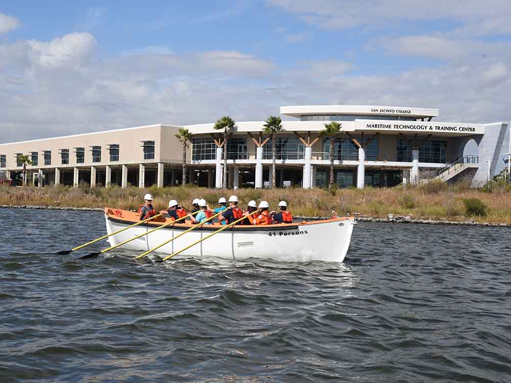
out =
[[462,134],[484,134],[484,127],[474,124],[455,123],[425,123],[408,121],[356,121],[357,130],[388,130],[397,132],[414,133],[462,133]]

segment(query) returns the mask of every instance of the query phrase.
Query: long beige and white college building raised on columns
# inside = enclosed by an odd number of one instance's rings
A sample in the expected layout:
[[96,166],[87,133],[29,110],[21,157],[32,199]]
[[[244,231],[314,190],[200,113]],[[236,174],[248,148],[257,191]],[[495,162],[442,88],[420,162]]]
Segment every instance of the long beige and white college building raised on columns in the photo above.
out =
[[[437,122],[438,109],[316,105],[284,106],[276,135],[276,186],[322,187],[330,171],[330,138],[319,132],[341,124],[334,168],[339,187],[391,187],[425,178],[483,184],[494,174],[506,123]],[[221,187],[227,150],[229,187],[272,187],[272,141],[264,121],[237,122],[226,148],[214,123],[156,124],[0,145],[0,177],[19,183],[20,155],[28,155],[28,179],[37,185],[178,185],[182,179],[179,128],[192,133],[188,180]],[[474,153],[464,153],[473,140]]]

